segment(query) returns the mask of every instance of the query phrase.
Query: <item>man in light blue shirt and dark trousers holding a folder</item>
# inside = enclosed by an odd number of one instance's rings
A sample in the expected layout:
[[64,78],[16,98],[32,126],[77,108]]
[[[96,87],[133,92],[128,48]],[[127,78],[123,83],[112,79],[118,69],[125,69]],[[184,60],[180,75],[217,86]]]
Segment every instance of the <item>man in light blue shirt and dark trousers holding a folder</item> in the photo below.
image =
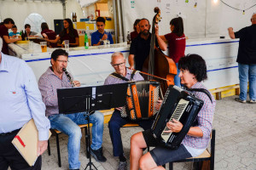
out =
[[[40,155],[47,149],[49,120],[32,69],[24,60],[1,53],[0,37],[0,169],[41,169]],[[30,167],[11,143],[33,118],[38,128],[38,160]]]

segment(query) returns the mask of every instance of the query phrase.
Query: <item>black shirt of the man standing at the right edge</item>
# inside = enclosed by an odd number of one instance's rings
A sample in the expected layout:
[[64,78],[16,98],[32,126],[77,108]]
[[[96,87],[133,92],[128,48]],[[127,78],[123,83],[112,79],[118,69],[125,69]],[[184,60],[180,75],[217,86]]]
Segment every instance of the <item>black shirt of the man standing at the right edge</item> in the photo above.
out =
[[236,31],[235,37],[240,38],[236,62],[256,64],[256,24]]

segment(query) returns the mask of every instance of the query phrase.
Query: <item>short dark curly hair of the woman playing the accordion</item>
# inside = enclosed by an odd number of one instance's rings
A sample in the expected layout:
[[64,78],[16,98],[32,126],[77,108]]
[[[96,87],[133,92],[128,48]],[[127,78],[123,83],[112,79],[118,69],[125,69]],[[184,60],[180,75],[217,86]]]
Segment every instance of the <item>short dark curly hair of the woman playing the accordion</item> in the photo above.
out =
[[178,69],[183,69],[185,71],[189,71],[191,74],[194,74],[198,82],[207,80],[206,61],[198,54],[188,54],[179,59]]

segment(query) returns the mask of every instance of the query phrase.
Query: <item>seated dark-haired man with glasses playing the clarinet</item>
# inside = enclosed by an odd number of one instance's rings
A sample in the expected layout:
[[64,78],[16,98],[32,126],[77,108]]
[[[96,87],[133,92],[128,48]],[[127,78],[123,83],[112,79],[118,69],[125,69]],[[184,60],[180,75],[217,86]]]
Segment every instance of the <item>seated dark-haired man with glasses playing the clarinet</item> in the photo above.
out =
[[[56,49],[51,54],[48,70],[40,77],[38,86],[46,105],[46,116],[49,118],[50,127],[61,131],[68,135],[67,151],[69,169],[79,169],[79,150],[80,139],[82,137],[79,124],[87,124],[84,112],[73,114],[59,114],[57,88],[72,88],[71,80],[64,73],[63,68],[67,68],[68,54],[63,49]],[[63,74],[64,73],[64,74]],[[72,77],[72,75],[70,75]],[[73,79],[73,78],[71,78]],[[79,81],[73,81],[75,87],[80,86]],[[90,123],[92,126],[92,144],[91,155],[96,161],[107,161],[102,153],[102,133],[104,116],[101,112],[96,111],[90,115]]]

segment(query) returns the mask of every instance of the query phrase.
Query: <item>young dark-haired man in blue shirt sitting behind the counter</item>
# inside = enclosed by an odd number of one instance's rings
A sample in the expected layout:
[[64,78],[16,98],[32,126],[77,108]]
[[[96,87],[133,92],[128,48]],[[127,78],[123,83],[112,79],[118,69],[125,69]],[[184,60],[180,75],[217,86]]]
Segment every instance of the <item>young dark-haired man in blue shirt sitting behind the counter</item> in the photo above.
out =
[[97,31],[91,34],[91,45],[98,46],[103,45],[103,40],[108,40],[110,44],[113,44],[113,38],[109,32],[104,31],[105,19],[98,17],[96,20]]

